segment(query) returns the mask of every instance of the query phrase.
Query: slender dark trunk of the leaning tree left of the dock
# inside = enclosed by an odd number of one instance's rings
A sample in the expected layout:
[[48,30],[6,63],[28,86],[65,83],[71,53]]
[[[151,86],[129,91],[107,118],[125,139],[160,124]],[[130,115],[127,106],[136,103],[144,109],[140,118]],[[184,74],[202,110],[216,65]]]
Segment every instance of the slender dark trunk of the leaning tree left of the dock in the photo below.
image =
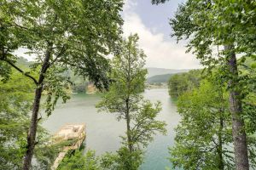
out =
[[26,145],[26,155],[24,156],[24,161],[23,161],[23,170],[29,170],[31,167],[33,150],[36,144],[35,140],[36,140],[37,128],[38,128],[38,111],[40,108],[40,100],[41,100],[41,96],[44,88],[45,73],[49,68],[49,59],[50,59],[51,50],[52,50],[51,47],[52,45],[49,45],[49,48],[46,51],[44,63],[42,65],[39,79],[38,79],[38,87],[35,91],[35,97],[34,97],[34,102],[32,107],[31,123],[30,123],[29,131],[27,133],[27,138],[26,138],[27,145]]

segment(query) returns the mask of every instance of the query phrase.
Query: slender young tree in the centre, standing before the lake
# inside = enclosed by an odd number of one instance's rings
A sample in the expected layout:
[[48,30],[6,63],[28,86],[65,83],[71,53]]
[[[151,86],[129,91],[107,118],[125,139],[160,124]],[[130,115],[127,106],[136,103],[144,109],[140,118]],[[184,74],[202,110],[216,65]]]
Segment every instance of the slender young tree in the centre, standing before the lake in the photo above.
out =
[[[137,47],[137,35],[128,37],[122,43],[120,54],[113,58],[111,78],[113,82],[107,94],[97,105],[103,111],[117,115],[117,119],[125,120],[126,136],[122,137],[125,147],[119,152],[127,161],[122,169],[137,169],[133,164],[132,155],[141,147],[148,145],[155,133],[166,133],[166,123],[156,121],[160,112],[160,103],[151,104],[141,94],[145,88],[145,54]],[[126,148],[126,149],[125,149]],[[141,155],[141,154],[140,154]]]

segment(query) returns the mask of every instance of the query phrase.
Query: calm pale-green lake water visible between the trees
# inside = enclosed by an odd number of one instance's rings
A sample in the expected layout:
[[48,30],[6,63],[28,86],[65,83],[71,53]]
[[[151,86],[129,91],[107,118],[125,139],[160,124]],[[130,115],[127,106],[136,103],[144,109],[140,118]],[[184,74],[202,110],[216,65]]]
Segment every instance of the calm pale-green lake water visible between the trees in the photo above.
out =
[[[171,167],[167,160],[168,147],[172,146],[179,116],[167,89],[149,89],[144,93],[146,99],[162,103],[159,120],[166,121],[167,135],[156,135],[148,145],[142,170],[161,170]],[[95,105],[101,100],[98,94],[73,94],[67,104],[58,104],[43,126],[55,133],[65,123],[86,124],[86,149],[96,150],[100,155],[106,151],[115,151],[120,146],[120,135],[125,134],[125,122],[118,122],[113,114],[98,113]]]

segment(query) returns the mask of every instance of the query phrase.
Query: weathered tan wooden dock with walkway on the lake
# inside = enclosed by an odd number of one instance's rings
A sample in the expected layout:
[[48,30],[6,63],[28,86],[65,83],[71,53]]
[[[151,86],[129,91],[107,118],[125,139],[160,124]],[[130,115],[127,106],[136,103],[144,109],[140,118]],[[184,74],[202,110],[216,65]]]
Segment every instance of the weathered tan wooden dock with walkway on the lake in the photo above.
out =
[[77,150],[83,144],[86,138],[85,124],[66,124],[60,128],[60,130],[53,136],[54,143],[60,143],[63,141],[74,140],[73,144],[64,146],[62,151],[56,157],[52,170],[59,167],[61,161],[66,156],[69,150]]

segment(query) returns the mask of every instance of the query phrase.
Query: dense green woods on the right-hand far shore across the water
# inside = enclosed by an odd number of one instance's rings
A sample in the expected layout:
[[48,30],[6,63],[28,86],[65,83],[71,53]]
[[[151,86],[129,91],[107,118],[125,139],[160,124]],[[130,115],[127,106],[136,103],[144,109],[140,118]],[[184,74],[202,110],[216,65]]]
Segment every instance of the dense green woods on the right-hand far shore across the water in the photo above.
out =
[[172,97],[178,97],[193,88],[199,87],[201,74],[201,70],[192,70],[173,75],[168,82],[169,94]]

